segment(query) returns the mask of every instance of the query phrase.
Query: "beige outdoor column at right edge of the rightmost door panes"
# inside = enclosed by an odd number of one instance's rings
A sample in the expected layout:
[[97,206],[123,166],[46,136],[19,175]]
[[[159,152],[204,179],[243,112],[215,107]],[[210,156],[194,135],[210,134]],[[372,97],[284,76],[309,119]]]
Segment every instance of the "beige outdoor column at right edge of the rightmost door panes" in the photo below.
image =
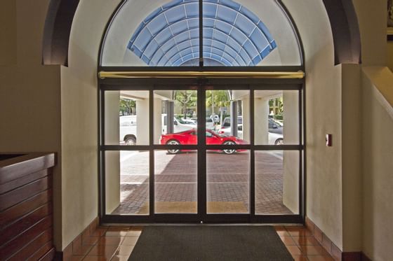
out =
[[[299,142],[299,96],[297,91],[284,91],[284,144]],[[299,213],[299,153],[284,151],[283,203]]]

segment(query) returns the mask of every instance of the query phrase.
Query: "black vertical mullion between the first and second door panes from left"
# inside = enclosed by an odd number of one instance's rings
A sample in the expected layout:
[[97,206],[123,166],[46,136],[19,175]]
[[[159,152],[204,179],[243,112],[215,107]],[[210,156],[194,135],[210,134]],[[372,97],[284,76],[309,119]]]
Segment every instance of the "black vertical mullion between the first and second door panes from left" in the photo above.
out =
[[154,220],[154,91],[149,90],[149,217]]

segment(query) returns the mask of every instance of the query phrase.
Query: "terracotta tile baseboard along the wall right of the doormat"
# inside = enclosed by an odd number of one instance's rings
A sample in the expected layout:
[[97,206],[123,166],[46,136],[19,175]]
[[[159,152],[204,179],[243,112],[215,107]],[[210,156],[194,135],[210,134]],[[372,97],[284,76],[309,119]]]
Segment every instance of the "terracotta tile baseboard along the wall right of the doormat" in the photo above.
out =
[[331,241],[331,239],[329,239],[328,236],[326,236],[326,234],[308,217],[306,217],[305,223],[314,239],[317,239],[319,244],[331,254],[335,261],[372,261],[363,252],[342,252],[340,248],[335,246],[333,241]]

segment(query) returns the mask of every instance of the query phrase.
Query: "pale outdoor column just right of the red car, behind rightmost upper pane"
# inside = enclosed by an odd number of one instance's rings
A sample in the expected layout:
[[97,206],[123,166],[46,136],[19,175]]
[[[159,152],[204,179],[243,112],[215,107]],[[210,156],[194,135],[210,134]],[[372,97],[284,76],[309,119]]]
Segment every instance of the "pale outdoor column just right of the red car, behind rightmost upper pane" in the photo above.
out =
[[266,145],[269,141],[269,133],[268,133],[269,125],[267,120],[268,117],[269,117],[269,101],[264,98],[255,98],[254,100],[255,144]]

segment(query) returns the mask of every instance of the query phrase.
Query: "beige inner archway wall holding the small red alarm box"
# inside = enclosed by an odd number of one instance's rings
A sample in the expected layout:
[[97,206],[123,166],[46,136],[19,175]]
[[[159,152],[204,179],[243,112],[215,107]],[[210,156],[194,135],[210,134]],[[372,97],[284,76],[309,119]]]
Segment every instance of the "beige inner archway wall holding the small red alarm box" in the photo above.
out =
[[[283,1],[305,48],[307,216],[342,248],[341,66],[322,1]],[[333,134],[326,147],[325,134]]]

